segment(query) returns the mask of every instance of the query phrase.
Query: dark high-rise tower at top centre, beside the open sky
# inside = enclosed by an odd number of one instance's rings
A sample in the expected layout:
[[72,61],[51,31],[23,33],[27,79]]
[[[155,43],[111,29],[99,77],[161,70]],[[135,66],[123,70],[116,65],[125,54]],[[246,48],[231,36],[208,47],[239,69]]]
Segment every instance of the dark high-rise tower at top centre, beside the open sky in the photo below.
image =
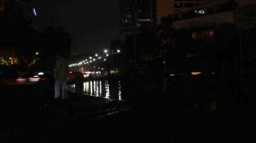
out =
[[122,32],[152,28],[156,23],[156,0],[122,0]]

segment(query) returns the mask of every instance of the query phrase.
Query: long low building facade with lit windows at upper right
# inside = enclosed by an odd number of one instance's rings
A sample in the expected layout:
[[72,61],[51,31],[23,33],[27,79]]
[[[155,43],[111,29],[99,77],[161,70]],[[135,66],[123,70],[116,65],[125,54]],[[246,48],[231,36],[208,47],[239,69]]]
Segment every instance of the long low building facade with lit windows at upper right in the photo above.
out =
[[[192,33],[193,39],[213,37],[220,24],[235,24],[243,29],[256,25],[255,1],[222,1],[215,5],[171,14],[172,26],[178,29],[200,30]],[[202,31],[205,30],[205,31]]]

